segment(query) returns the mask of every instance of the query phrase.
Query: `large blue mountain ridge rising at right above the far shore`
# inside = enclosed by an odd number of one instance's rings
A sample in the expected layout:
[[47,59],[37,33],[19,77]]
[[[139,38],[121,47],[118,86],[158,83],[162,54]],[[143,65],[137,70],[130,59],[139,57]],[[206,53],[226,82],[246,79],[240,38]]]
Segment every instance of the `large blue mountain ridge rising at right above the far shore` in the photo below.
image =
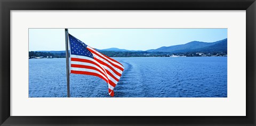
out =
[[223,39],[216,42],[199,42],[191,41],[186,44],[179,44],[170,47],[160,47],[157,49],[147,50],[149,52],[174,52],[174,53],[186,53],[186,52],[227,52],[227,39]]

